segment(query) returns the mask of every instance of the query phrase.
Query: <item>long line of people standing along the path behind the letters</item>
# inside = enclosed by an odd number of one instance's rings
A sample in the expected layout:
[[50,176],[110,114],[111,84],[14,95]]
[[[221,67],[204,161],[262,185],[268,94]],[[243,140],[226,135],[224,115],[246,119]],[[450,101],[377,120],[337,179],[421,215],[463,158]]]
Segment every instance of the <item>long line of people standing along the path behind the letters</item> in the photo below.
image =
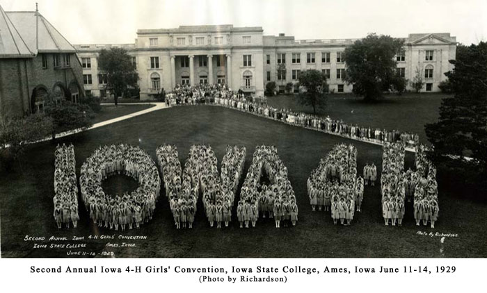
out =
[[358,126],[343,122],[341,119],[331,119],[329,116],[319,117],[289,109],[273,108],[267,104],[265,98],[246,97],[243,92],[232,92],[225,85],[205,84],[194,87],[177,85],[173,92],[166,96],[166,104],[168,106],[199,104],[223,106],[294,126],[379,144],[402,142],[406,146],[413,148],[419,144],[420,139],[415,133]]

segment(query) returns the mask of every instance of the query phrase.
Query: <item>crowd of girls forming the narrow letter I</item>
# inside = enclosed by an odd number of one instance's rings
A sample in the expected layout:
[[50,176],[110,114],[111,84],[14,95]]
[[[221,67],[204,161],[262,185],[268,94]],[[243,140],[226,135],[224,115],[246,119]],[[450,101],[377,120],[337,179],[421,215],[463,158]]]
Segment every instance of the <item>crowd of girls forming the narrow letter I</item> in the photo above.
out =
[[76,160],[74,160],[74,146],[59,144],[54,152],[54,220],[58,228],[65,224],[74,228],[79,221],[78,214],[78,185],[76,178]]

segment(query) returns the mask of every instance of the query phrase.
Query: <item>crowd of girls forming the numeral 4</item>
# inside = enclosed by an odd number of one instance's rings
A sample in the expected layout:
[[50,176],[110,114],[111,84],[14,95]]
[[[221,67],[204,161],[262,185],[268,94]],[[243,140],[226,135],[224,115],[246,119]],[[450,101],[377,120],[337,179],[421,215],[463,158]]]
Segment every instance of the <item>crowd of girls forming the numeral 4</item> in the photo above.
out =
[[357,149],[352,144],[337,144],[311,171],[307,181],[312,211],[331,212],[333,223],[350,225],[360,212],[364,180],[357,177]]

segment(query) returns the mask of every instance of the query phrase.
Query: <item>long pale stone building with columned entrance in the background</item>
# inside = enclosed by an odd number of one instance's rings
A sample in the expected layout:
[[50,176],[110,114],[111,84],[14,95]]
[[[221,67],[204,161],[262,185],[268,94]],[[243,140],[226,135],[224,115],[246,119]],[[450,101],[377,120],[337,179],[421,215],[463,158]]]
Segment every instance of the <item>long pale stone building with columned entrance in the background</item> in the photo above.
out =
[[[136,63],[141,99],[150,99],[163,88],[188,83],[225,83],[233,90],[263,95],[266,83],[298,82],[298,74],[318,69],[328,76],[332,92],[351,92],[344,80],[342,53],[356,40],[295,40],[292,36],[264,35],[262,27],[179,26],[137,31],[134,44],[75,45],[83,64],[85,90],[104,96],[106,78],[97,70],[97,54],[103,48],[124,47]],[[456,37],[449,33],[410,34],[404,51],[397,54],[398,74],[412,81],[420,72],[426,92],[438,91],[444,73],[452,69]],[[278,64],[285,64],[280,74]],[[297,90],[295,86],[295,90]]]

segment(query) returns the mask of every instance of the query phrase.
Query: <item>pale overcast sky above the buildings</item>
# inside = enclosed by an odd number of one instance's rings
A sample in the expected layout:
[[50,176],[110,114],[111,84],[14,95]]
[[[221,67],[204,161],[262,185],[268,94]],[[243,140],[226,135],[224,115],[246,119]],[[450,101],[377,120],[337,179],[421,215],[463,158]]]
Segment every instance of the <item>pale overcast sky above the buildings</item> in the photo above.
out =
[[296,40],[368,33],[451,33],[487,41],[487,0],[0,0],[3,10],[35,10],[72,44],[134,43],[137,29],[180,25],[262,26]]

